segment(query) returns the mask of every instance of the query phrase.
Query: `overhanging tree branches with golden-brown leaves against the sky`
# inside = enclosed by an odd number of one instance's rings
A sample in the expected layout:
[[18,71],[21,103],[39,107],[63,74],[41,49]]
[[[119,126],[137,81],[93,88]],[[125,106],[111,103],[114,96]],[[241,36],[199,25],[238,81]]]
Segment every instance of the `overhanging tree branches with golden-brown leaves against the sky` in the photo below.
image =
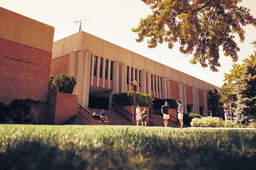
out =
[[209,65],[212,71],[218,71],[219,47],[222,46],[224,56],[230,56],[233,62],[238,59],[240,48],[234,40],[238,34],[240,42],[244,42],[243,26],[256,27],[256,19],[250,9],[237,6],[242,0],[142,0],[150,6],[153,14],[140,20],[136,32],[142,42],[145,37],[148,48],[168,42],[173,48],[175,42],[180,43],[180,52],[192,54],[190,63],[199,62],[203,68]]

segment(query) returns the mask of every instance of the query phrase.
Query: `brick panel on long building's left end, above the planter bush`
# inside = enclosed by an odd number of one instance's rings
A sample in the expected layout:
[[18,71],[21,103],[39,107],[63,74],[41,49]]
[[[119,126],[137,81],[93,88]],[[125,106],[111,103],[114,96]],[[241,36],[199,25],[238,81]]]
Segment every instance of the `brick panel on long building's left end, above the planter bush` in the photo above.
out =
[[61,73],[68,73],[70,54],[52,59],[50,75],[57,76]]

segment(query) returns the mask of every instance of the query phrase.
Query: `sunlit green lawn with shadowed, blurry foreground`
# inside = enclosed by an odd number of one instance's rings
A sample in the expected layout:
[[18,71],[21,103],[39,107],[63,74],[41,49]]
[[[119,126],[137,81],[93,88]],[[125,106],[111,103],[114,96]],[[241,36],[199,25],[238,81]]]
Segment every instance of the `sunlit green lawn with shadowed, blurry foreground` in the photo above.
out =
[[256,167],[256,129],[0,125],[0,132],[0,169]]

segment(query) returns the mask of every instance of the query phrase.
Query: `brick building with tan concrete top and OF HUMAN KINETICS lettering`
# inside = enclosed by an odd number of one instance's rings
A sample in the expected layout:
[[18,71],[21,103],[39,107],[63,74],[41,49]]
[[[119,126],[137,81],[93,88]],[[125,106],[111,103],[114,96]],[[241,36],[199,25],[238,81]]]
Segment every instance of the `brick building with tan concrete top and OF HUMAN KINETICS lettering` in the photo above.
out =
[[0,102],[47,101],[54,27],[0,7]]

